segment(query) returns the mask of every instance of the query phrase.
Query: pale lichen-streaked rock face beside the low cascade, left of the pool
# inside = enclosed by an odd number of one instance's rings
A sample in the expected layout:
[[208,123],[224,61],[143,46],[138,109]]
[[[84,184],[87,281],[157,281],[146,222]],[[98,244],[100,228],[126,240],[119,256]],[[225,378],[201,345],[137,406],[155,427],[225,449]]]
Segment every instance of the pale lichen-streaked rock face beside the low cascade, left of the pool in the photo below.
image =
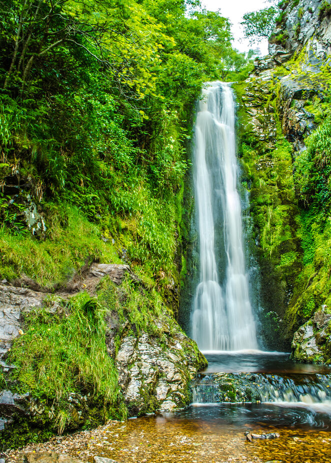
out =
[[166,336],[163,346],[146,333],[138,338],[133,335],[123,338],[116,366],[130,413],[155,408],[170,411],[187,403],[189,381],[200,361],[190,352],[188,342],[180,332],[174,338]]

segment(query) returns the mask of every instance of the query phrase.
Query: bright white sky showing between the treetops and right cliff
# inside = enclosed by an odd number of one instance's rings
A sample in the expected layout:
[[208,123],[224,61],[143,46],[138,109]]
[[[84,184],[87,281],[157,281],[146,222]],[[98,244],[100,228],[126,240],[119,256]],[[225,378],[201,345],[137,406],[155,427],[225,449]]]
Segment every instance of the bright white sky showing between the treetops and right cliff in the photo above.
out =
[[240,26],[240,22],[245,13],[269,7],[270,3],[267,3],[265,0],[202,0],[201,3],[209,11],[220,10],[221,16],[230,20],[232,23],[232,35],[235,37],[233,46],[239,50],[239,52],[248,52],[250,48],[259,48],[262,56],[268,54],[266,40],[249,45],[248,40],[243,37],[243,30],[242,26]]

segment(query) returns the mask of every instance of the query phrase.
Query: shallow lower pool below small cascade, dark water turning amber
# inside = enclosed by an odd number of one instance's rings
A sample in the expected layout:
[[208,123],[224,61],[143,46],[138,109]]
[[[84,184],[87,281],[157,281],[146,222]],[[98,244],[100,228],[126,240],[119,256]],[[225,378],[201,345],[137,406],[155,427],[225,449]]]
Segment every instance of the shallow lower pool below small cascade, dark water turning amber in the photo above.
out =
[[[308,408],[271,404],[219,404],[189,407],[176,413],[130,419],[98,429],[88,449],[118,463],[242,463],[331,461],[330,417]],[[244,431],[279,432],[272,440],[244,438]]]

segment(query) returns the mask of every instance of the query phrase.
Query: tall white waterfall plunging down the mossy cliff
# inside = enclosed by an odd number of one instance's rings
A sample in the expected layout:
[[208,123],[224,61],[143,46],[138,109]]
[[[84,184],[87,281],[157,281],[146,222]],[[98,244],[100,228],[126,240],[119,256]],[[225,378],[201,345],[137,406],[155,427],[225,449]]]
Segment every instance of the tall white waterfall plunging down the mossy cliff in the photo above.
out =
[[225,83],[206,83],[196,115],[194,149],[200,282],[191,326],[201,350],[257,348],[236,181],[232,91]]

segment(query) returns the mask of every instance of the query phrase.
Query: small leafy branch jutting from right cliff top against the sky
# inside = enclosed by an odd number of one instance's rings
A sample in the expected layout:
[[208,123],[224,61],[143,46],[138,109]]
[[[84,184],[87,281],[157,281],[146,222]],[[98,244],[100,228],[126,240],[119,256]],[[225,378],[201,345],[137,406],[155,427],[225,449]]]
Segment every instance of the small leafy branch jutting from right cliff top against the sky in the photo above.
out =
[[244,34],[251,43],[268,39],[274,28],[277,9],[268,7],[257,12],[245,13],[243,22],[240,23],[244,28]]

